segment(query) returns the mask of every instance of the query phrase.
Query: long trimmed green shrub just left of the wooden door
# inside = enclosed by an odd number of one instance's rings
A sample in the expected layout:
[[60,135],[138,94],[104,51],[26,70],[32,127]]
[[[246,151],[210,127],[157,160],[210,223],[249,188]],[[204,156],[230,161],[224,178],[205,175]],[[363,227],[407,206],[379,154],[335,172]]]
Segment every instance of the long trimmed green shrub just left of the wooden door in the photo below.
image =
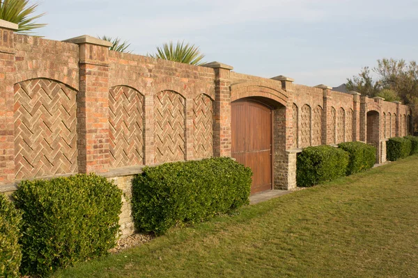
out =
[[249,204],[251,170],[231,158],[145,167],[132,182],[137,229],[164,234],[177,223],[207,220]]

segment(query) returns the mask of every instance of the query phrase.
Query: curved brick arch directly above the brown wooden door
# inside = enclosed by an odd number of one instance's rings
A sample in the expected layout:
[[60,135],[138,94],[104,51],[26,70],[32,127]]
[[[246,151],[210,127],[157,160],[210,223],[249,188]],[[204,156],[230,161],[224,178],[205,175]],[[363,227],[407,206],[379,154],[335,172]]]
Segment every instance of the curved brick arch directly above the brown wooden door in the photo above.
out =
[[286,106],[288,93],[277,85],[265,82],[245,82],[231,85],[231,101],[245,97],[266,97]]

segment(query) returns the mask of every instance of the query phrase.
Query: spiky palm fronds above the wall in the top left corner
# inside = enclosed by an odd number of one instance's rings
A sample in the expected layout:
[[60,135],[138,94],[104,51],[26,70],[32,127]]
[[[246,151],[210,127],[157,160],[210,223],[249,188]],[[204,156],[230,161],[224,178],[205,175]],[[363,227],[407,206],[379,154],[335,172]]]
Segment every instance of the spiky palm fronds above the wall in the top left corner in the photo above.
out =
[[33,16],[38,5],[38,3],[29,5],[29,0],[2,0],[0,1],[0,19],[19,24],[18,33],[33,35],[35,34],[32,32],[33,29],[47,25],[34,22],[45,15],[45,13],[42,13]]

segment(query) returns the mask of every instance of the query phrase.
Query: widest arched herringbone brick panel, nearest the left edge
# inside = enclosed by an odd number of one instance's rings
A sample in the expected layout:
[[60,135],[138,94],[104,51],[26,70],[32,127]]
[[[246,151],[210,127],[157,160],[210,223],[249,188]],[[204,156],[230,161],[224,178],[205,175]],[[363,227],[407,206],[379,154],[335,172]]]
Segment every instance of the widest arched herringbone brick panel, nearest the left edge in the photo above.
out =
[[33,79],[15,84],[15,177],[77,172],[76,92]]

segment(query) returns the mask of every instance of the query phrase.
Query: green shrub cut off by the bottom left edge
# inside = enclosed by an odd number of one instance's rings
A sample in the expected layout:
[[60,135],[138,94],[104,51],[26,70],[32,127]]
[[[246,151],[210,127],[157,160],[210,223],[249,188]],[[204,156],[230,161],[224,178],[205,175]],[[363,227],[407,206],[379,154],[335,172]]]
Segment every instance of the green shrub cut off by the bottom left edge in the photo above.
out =
[[18,240],[21,220],[21,213],[0,194],[0,277],[20,277],[22,251]]

